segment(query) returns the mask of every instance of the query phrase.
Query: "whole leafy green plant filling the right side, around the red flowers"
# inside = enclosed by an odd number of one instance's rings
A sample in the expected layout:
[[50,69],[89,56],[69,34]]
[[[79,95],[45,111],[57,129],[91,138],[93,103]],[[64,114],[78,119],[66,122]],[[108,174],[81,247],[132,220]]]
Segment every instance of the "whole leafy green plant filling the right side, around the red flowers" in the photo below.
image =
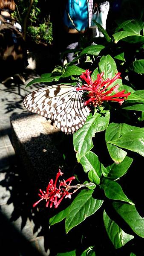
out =
[[[95,188],[82,189],[66,209],[50,218],[49,223],[52,226],[65,220],[65,230],[69,233],[83,221],[85,225],[86,218],[91,216],[90,220],[96,224],[89,224],[92,231],[88,231],[88,236],[92,232],[98,238],[101,235],[97,226],[101,220],[100,215],[103,215],[101,229],[105,227],[115,249],[125,248],[129,242],[131,249],[128,255],[134,255],[136,241],[144,238],[141,200],[144,175],[141,167],[138,169],[138,166],[143,166],[144,156],[144,90],[139,80],[144,73],[144,23],[140,20],[126,20],[119,23],[112,36],[98,23],[96,25],[103,32],[104,38],[94,39],[97,44],[80,49],[71,63],[55,67],[52,73],[43,74],[27,85],[36,82],[74,84],[76,79],[80,81],[79,76],[85,72],[86,67],[86,70],[92,71],[93,81],[98,79],[98,74],[103,73],[106,80],[112,79],[120,71],[122,80],[115,82],[115,85],[119,84],[118,91],[131,92],[121,105],[105,102],[96,107],[83,127],[73,135],[78,166],[81,164],[83,167],[83,175],[81,172],[76,173],[78,182],[92,182]],[[100,39],[101,44],[98,44]],[[74,65],[84,56],[84,63]],[[102,243],[106,253],[107,245],[104,240]],[[87,248],[84,247],[85,250],[79,255],[97,255],[98,246],[98,239],[95,242],[89,241]],[[76,248],[57,255],[68,253],[77,255]]]

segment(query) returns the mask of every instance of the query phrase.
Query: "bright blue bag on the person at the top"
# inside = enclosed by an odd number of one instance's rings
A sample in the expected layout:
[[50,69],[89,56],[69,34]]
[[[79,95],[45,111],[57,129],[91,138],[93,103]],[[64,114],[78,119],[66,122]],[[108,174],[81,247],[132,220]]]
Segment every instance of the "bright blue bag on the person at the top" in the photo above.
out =
[[68,0],[63,23],[67,32],[85,32],[89,27],[88,0]]

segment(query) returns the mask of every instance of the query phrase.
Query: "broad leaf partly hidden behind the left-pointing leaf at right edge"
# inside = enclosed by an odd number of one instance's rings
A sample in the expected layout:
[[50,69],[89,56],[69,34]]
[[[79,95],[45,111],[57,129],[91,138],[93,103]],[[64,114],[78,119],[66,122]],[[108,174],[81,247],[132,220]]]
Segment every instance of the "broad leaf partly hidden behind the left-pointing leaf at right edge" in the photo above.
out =
[[115,163],[121,163],[126,157],[127,152],[121,148],[118,148],[112,143],[109,144],[108,141],[113,141],[121,137],[122,134],[125,134],[131,130],[132,131],[137,130],[137,127],[132,125],[127,125],[127,124],[115,124],[115,123],[109,124],[106,130],[105,140],[107,143],[107,149],[109,151],[110,157]]

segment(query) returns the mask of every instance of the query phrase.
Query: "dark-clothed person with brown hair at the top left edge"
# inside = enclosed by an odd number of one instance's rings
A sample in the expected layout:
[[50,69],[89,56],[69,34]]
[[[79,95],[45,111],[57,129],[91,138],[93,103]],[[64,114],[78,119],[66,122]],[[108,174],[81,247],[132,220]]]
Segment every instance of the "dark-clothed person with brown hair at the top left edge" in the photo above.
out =
[[11,16],[14,10],[14,0],[0,0],[0,79],[3,84],[23,84],[22,73],[28,65],[22,27]]

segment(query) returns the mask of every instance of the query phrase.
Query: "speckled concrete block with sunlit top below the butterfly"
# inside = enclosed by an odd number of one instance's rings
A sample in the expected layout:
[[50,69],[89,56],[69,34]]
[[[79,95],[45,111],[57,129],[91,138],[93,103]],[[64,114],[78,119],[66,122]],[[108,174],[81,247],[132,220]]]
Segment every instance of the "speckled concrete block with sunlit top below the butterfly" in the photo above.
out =
[[59,130],[50,120],[29,112],[14,113],[10,121],[12,145],[28,181],[35,188],[46,189],[63,164],[62,154],[52,139]]

